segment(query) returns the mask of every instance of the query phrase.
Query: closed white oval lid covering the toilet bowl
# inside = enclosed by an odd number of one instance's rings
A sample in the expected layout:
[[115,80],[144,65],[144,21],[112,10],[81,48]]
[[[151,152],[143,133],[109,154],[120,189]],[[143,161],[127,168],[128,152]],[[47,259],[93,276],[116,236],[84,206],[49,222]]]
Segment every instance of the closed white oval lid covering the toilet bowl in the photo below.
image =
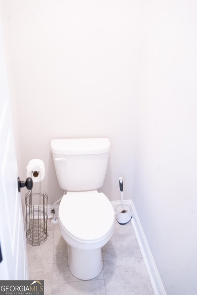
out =
[[63,196],[58,218],[72,237],[93,241],[111,230],[114,209],[103,193],[72,193]]

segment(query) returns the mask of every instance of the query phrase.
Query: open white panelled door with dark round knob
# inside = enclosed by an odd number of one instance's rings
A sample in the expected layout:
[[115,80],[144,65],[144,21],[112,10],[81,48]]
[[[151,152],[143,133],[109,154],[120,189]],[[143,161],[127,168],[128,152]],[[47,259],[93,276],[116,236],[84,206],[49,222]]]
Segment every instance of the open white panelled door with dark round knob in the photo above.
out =
[[[0,20],[0,280],[28,280],[6,60]],[[24,180],[24,179],[22,179]],[[0,255],[1,257],[1,255]]]

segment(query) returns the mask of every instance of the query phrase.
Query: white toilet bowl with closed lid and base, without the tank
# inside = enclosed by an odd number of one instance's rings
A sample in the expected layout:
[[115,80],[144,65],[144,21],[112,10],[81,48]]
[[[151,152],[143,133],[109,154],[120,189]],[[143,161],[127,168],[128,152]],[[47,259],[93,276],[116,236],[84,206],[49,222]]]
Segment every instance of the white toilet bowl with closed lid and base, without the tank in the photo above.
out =
[[71,273],[90,280],[101,272],[101,248],[114,229],[114,210],[103,193],[97,191],[67,192],[59,206],[58,223],[67,242]]

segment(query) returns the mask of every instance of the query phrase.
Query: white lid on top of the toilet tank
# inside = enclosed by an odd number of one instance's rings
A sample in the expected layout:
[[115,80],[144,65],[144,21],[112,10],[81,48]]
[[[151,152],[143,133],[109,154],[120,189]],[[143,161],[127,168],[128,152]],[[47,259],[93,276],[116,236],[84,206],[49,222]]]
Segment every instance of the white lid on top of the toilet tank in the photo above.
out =
[[51,151],[58,155],[91,155],[110,151],[108,138],[53,139]]

